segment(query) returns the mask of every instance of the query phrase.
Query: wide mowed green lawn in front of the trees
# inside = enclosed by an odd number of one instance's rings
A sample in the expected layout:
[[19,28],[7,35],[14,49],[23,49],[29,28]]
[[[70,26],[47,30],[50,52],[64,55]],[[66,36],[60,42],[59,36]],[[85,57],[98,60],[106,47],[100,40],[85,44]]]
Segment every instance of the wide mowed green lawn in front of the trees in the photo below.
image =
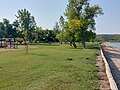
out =
[[0,52],[0,90],[98,89],[96,53],[69,45]]

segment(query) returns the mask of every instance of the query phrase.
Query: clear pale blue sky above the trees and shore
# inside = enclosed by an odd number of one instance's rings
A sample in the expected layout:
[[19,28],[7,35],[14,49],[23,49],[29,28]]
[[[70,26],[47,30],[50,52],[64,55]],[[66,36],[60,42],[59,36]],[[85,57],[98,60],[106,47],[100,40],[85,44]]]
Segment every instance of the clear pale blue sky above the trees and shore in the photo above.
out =
[[[96,18],[97,34],[120,34],[120,0],[90,0],[98,4],[104,15]],[[7,18],[12,23],[19,9],[26,8],[43,29],[52,29],[64,15],[67,0],[0,0],[0,21]]]

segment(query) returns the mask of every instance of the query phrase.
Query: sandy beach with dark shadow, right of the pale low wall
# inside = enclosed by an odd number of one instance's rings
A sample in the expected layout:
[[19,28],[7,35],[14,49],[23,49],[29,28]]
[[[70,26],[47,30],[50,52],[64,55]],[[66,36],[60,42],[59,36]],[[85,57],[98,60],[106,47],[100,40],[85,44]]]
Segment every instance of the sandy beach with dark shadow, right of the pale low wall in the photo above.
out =
[[112,75],[120,90],[120,50],[112,48],[110,46],[104,46],[104,54],[110,65]]

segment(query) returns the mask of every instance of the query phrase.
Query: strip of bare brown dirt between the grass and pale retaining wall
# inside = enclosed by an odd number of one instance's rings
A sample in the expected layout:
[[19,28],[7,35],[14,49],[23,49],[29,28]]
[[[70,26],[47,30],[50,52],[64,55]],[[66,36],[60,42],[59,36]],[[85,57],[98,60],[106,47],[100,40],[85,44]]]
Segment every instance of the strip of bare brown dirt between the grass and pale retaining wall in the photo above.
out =
[[111,90],[110,84],[105,72],[105,64],[101,55],[97,57],[96,66],[99,67],[98,78],[99,78],[100,90]]

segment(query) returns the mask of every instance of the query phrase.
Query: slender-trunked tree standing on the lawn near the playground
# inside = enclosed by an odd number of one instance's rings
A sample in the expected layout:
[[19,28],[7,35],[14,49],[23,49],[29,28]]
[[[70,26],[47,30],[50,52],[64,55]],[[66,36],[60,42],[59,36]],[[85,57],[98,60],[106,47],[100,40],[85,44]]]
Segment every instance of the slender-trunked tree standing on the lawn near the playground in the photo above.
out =
[[16,15],[19,22],[19,29],[22,32],[23,38],[26,45],[26,53],[28,53],[28,43],[32,42],[32,32],[36,28],[35,18],[31,16],[31,13],[26,9],[18,10],[18,15]]

